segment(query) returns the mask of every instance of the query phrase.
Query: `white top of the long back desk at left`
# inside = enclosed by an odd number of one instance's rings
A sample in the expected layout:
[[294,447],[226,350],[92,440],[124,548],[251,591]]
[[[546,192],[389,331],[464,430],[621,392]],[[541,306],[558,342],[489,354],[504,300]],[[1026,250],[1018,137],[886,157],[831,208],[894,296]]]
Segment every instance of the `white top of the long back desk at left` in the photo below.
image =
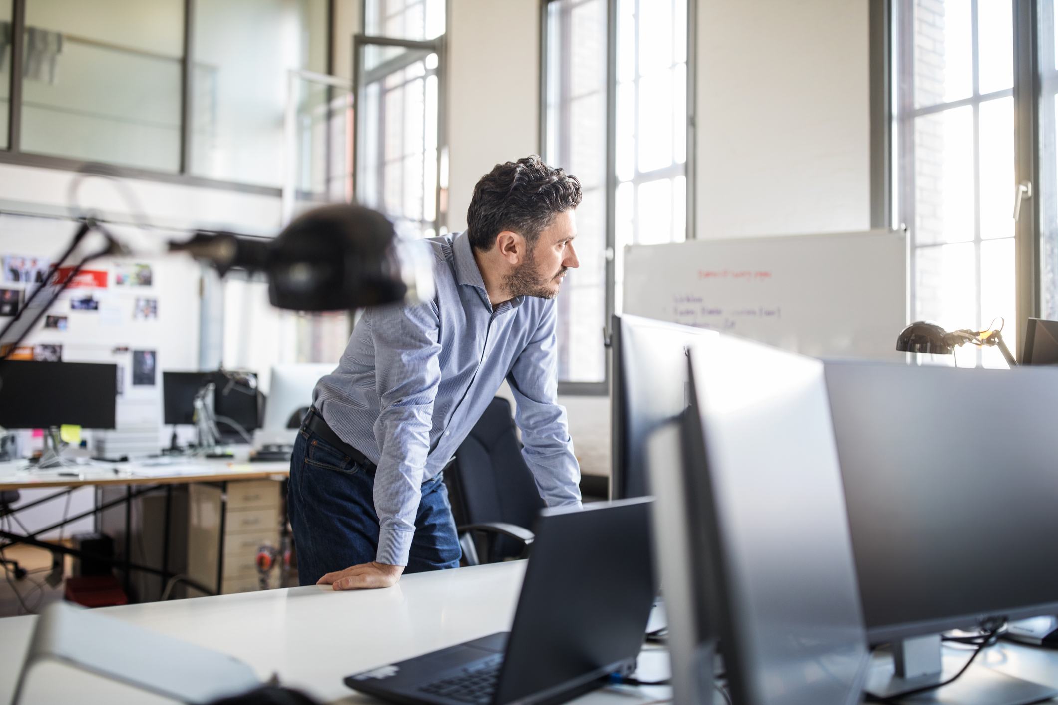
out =
[[0,489],[219,482],[260,480],[290,475],[290,463],[286,461],[251,463],[247,460],[193,458],[164,464],[141,461],[93,463],[44,470],[24,469],[25,467],[24,460],[0,463]]

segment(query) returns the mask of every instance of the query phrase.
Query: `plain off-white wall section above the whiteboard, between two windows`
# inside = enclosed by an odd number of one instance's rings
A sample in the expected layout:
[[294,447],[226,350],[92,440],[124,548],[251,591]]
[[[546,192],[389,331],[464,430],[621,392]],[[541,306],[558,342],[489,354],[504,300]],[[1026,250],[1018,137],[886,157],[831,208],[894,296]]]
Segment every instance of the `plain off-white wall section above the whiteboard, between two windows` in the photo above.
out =
[[868,4],[698,0],[697,237],[870,227]]

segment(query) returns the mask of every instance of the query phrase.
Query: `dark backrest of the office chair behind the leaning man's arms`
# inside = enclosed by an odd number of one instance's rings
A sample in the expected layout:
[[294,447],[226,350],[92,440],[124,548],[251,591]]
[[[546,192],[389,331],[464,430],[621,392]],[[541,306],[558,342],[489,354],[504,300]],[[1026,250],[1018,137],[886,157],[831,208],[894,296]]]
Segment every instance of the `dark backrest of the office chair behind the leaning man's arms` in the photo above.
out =
[[[522,458],[511,404],[500,396],[486,408],[444,475],[457,525],[504,521],[532,530],[544,508]],[[510,539],[498,540],[488,560],[513,558],[523,548]]]

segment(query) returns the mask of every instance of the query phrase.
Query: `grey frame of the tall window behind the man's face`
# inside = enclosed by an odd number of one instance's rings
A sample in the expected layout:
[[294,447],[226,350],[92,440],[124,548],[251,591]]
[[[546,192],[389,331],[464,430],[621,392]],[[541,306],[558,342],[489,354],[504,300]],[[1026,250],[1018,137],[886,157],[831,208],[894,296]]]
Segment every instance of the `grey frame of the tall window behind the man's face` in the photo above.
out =
[[[548,76],[548,7],[552,2],[561,0],[541,0],[539,22],[540,22],[540,70],[539,77],[539,104],[540,114],[537,125],[540,132],[537,135],[537,152],[543,154],[547,145],[547,76]],[[601,382],[565,382],[559,381],[559,394],[570,396],[608,396],[613,381],[613,356],[608,353],[610,347],[610,320],[616,313],[617,296],[617,257],[615,248],[616,236],[616,199],[617,187],[620,184],[617,178],[617,35],[618,17],[617,1],[605,0],[606,3],[606,212],[605,212],[605,242],[603,253],[605,256],[605,309],[604,319],[598,321],[603,331],[602,345],[606,350],[604,354],[604,371]],[[686,196],[686,240],[696,238],[695,219],[695,177],[696,177],[696,138],[695,138],[695,107],[696,107],[696,43],[697,43],[697,0],[687,0],[687,161],[685,163],[685,174],[687,178]],[[661,178],[661,172],[649,172],[650,178],[645,181],[653,181]],[[640,183],[639,175],[628,183]],[[561,294],[560,294],[561,296]]]

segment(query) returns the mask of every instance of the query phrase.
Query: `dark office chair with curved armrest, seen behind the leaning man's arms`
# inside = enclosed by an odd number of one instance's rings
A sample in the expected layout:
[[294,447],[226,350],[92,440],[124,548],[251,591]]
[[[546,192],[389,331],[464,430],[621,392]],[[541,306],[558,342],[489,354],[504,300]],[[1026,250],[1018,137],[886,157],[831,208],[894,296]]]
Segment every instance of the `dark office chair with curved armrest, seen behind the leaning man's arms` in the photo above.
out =
[[510,402],[492,400],[444,468],[444,483],[467,565],[528,555],[544,500],[522,458]]

